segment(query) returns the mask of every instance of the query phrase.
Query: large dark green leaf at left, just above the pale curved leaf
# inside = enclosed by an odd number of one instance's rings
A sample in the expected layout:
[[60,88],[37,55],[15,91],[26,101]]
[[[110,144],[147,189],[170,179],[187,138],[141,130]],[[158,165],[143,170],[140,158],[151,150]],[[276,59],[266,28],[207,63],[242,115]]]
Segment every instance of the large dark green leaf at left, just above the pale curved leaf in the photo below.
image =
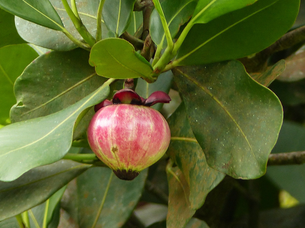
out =
[[58,112],[99,88],[106,78],[88,64],[89,52],[52,51],[38,57],[17,78],[12,122]]

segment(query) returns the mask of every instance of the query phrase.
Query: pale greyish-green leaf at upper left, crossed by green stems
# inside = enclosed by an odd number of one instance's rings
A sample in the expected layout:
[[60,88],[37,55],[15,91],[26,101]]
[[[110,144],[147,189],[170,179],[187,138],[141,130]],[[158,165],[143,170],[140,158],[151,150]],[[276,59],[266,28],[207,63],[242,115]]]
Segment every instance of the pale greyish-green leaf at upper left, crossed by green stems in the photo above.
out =
[[[82,37],[77,32],[68,14],[66,13],[62,2],[59,0],[50,0],[50,2],[56,9],[60,18],[62,18],[65,29],[67,29],[78,40],[82,40]],[[93,36],[95,36],[96,31],[96,14],[98,7],[99,0],[77,1],[77,10],[82,22]],[[77,47],[76,44],[74,44],[62,32],[48,29],[19,17],[15,18],[15,24],[20,36],[29,43],[34,43],[41,47],[61,51],[71,50]],[[102,23],[102,36],[103,38],[108,37],[108,29],[104,23]]]

